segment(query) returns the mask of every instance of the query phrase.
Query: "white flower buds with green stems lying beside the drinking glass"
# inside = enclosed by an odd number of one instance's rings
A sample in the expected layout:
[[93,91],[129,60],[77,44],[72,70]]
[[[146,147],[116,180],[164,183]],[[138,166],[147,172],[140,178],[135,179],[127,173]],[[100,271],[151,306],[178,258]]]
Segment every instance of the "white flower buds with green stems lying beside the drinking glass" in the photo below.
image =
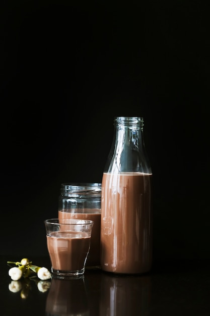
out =
[[9,276],[14,281],[20,280],[22,276],[24,278],[29,277],[32,272],[36,273],[37,277],[41,280],[47,280],[51,278],[51,273],[47,270],[47,268],[34,266],[32,265],[32,261],[29,261],[27,258],[23,258],[21,262],[8,261],[7,263],[18,266],[9,270]]

